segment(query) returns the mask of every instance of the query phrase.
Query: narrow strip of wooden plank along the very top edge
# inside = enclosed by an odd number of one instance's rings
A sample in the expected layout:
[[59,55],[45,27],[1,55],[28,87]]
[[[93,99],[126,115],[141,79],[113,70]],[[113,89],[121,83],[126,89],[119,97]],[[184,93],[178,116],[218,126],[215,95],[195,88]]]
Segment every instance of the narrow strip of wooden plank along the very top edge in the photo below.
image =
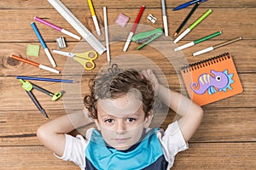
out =
[[[68,8],[86,8],[88,9],[88,4],[84,3],[84,1],[81,0],[73,0],[73,2],[70,2],[68,0],[61,0],[62,3],[67,5]],[[181,3],[186,3],[186,0],[181,1],[173,1],[169,2],[166,1],[166,8],[174,8],[177,5]],[[102,8],[104,6],[107,6],[108,8],[139,8],[142,4],[144,4],[147,8],[160,8],[161,4],[160,1],[154,1],[154,0],[142,0],[142,1],[136,1],[136,0],[129,0],[125,3],[120,2],[118,0],[113,1],[94,1],[93,2],[95,8]],[[243,0],[243,1],[218,1],[218,0],[212,0],[207,3],[202,3],[202,8],[249,8],[249,7],[255,7],[256,3],[253,0]],[[2,0],[0,2],[0,8],[51,8],[50,4],[47,1],[44,0],[30,0],[30,1],[22,1],[22,0],[16,0],[16,1],[9,1],[9,0]]]

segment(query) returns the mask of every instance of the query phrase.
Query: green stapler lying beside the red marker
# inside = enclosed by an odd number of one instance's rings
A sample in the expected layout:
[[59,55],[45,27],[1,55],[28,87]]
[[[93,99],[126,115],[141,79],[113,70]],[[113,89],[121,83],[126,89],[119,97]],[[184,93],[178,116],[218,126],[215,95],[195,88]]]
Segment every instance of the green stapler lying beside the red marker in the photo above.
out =
[[137,50],[145,47],[148,43],[153,42],[156,38],[160,37],[163,34],[163,29],[161,27],[153,31],[145,31],[138,33],[137,35],[131,38],[132,42],[143,43],[140,45]]

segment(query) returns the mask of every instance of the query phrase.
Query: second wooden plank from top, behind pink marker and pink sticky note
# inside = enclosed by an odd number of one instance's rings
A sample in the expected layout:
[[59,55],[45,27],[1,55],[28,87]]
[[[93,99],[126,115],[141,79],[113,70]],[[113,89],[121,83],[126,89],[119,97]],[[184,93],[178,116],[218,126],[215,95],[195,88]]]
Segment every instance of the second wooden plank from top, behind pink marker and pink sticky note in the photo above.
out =
[[[189,33],[183,40],[194,41],[200,37],[205,37],[208,34],[211,34],[216,31],[223,31],[223,35],[215,37],[216,40],[227,40],[233,37],[242,36],[244,39],[255,39],[256,33],[253,29],[247,29],[248,27],[254,27],[256,23],[256,10],[255,8],[240,8],[237,10],[236,8],[214,8],[212,9],[212,14],[207,17],[207,20],[201,22],[199,26]],[[191,25],[196,19],[198,19],[201,14],[205,13],[206,8],[198,8],[196,13],[191,16],[191,19],[188,21],[187,25],[183,28],[187,28]],[[38,42],[38,38],[35,33],[32,31],[32,26],[30,23],[33,20],[34,16],[39,16],[42,18],[46,18],[50,22],[54,23],[56,26],[61,26],[68,31],[72,31],[78,34],[72,26],[70,26],[66,20],[62,18],[60,14],[55,9],[24,9],[22,10],[23,14],[20,14],[20,10],[18,9],[4,9],[0,10],[1,12],[1,37],[0,42]],[[103,32],[103,14],[102,10],[98,12],[98,20]],[[108,26],[109,26],[109,38],[111,41],[125,41],[128,33],[133,25],[134,20],[137,16],[137,8],[124,8],[122,9],[122,13],[126,14],[131,18],[129,21],[130,24],[125,26],[125,28],[121,28],[119,26],[115,26],[114,20],[116,20],[117,15],[119,14],[116,9],[108,10]],[[182,11],[173,12],[172,9],[168,9],[167,13],[169,15],[169,32],[170,37],[174,31],[177,30],[177,27],[181,24],[183,18],[185,18],[186,14],[189,13],[189,8],[185,8]],[[92,18],[90,16],[90,10],[84,9],[76,9],[73,10],[73,14],[78,17],[78,19],[86,26],[90,31],[95,33],[95,26],[93,24]],[[155,24],[152,24],[147,20],[148,14],[154,14],[154,16],[158,19]],[[142,26],[151,26],[152,28],[157,28],[162,26],[162,13],[161,8],[148,8],[147,13],[143,13],[142,20],[140,20],[140,26],[138,26],[137,32],[139,32],[139,28]],[[236,17],[234,17],[236,16]],[[14,20],[15,19],[15,20]],[[12,20],[12,22],[9,22]],[[214,25],[212,24],[214,23]],[[242,23],[242,24],[241,24]],[[44,26],[36,21],[38,26],[38,30],[44,37],[44,41],[53,42],[56,37],[60,37],[61,32],[55,31],[49,26]],[[113,27],[116,29],[113,30]],[[244,31],[247,30],[245,34]],[[22,35],[22,37],[20,37]],[[67,36],[66,36],[67,37]],[[102,34],[100,39],[104,39],[104,35]],[[71,37],[67,37],[67,41],[76,41]],[[180,42],[179,42],[180,44]]]

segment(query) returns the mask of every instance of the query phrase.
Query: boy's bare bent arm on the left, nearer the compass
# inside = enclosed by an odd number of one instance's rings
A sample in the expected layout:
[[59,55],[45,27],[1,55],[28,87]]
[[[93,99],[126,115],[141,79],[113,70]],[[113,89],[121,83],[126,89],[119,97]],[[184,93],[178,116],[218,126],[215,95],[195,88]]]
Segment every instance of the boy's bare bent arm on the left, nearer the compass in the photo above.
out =
[[84,111],[85,113],[79,111],[45,123],[38,128],[38,139],[57,156],[62,156],[66,144],[65,133],[70,133],[76,127],[83,127],[93,122],[87,116],[87,110]]

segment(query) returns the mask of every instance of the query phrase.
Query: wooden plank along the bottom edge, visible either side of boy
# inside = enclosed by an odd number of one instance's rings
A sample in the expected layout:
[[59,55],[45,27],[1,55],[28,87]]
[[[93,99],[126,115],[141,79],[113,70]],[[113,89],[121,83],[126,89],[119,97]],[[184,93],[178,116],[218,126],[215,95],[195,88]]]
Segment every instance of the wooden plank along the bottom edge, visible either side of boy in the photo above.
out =
[[[253,169],[256,166],[255,149],[255,143],[189,144],[189,150],[177,154],[172,169]],[[3,169],[79,169],[72,162],[55,158],[43,146],[1,147],[0,151]]]

